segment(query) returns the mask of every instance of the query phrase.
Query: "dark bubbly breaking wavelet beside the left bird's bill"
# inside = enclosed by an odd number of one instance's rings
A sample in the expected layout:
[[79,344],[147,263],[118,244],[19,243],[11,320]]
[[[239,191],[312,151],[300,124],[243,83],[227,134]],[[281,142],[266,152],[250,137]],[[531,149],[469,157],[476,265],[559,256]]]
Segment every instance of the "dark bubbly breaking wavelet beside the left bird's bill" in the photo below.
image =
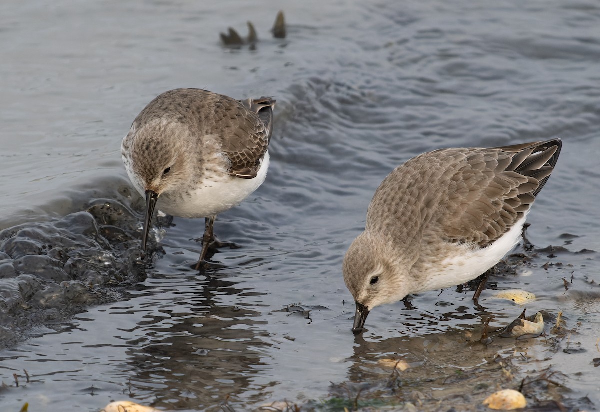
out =
[[0,231],[0,347],[142,279],[141,216],[119,200],[97,199],[62,219]]

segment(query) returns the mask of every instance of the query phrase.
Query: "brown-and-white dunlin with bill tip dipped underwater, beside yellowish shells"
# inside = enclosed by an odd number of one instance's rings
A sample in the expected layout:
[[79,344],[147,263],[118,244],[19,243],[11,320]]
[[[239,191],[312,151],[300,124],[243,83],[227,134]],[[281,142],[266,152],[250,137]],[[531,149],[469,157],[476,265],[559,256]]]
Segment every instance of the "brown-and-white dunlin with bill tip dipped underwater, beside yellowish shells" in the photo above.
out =
[[344,281],[356,302],[352,331],[362,331],[376,306],[463,284],[498,263],[520,241],[561,148],[550,140],[440,149],[390,173],[344,258]]

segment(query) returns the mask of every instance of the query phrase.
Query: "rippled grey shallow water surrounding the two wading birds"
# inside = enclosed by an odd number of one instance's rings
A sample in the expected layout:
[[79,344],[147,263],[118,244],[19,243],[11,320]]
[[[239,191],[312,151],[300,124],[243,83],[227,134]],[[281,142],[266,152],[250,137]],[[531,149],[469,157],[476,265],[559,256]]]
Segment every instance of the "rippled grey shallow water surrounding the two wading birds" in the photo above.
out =
[[[280,9],[284,40],[269,33]],[[0,16],[2,410],[343,410],[361,391],[373,408],[478,410],[544,371],[530,404],[600,406],[597,2],[9,0]],[[257,49],[223,47],[247,20]],[[179,87],[277,100],[268,178],[215,225],[242,248],[200,273],[200,219],[162,219],[151,264],[137,261],[142,201],[119,153],[137,113]],[[554,137],[528,218],[538,252],[491,279],[485,309],[424,293],[352,335],[341,261],[394,167]],[[523,310],[494,288],[535,293],[527,313],[562,311],[570,332],[479,344],[490,314],[497,329]],[[411,366],[394,390],[383,358]]]

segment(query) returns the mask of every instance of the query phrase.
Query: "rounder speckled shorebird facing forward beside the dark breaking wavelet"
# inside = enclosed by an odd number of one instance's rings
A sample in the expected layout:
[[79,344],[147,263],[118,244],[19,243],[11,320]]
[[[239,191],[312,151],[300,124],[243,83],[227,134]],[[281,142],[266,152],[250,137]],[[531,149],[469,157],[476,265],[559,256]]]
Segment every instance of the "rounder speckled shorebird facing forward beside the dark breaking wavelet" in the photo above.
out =
[[271,98],[238,101],[200,89],[175,89],[142,110],[123,139],[121,154],[131,182],[146,197],[143,252],[158,202],[169,215],[206,218],[200,268],[215,242],[217,215],[239,205],[265,181],[274,106]]

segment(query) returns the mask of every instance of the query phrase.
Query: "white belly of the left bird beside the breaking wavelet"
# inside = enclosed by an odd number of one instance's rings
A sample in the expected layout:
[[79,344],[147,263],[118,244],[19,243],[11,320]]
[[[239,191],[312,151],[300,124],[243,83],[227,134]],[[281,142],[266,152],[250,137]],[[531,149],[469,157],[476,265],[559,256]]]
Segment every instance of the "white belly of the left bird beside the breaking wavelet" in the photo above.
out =
[[254,179],[241,179],[219,171],[205,175],[202,185],[191,190],[184,202],[169,202],[158,198],[158,209],[182,218],[206,218],[215,216],[242,203],[263,184],[269,169],[269,152],[260,163],[259,173]]

